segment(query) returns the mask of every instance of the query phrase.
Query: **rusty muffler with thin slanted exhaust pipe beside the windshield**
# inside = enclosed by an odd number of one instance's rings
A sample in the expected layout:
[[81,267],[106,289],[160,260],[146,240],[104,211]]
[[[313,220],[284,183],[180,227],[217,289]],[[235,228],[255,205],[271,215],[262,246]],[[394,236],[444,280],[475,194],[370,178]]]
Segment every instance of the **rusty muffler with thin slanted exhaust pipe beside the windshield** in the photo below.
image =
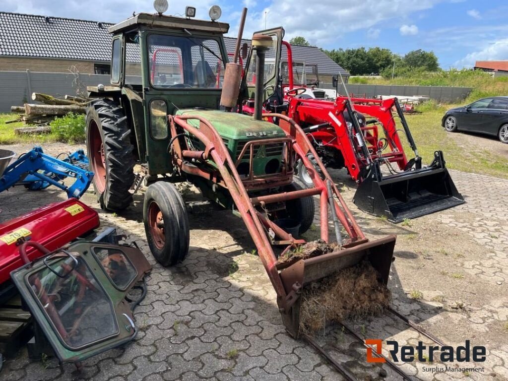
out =
[[223,90],[220,94],[220,106],[226,108],[230,112],[238,103],[240,95],[240,82],[242,80],[242,66],[237,63],[240,54],[240,45],[242,43],[243,26],[247,17],[247,8],[243,8],[240,26],[238,28],[238,39],[236,40],[235,55],[233,62],[226,63],[226,71],[224,72]]

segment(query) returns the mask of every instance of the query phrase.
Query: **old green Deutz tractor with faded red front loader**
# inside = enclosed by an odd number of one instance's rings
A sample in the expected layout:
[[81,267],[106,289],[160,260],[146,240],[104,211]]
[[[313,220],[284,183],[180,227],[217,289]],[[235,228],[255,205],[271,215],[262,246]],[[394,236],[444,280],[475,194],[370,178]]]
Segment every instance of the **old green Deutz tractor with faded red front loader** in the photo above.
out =
[[[134,167],[140,164],[148,181],[147,241],[155,259],[171,266],[185,258],[189,247],[186,208],[173,183],[196,185],[207,199],[243,219],[277,292],[283,321],[297,336],[302,288],[374,254],[373,265],[386,282],[395,237],[365,239],[326,169],[320,169],[325,180],[312,175],[315,164],[306,155],[313,148],[292,120],[263,116],[277,119],[274,125],[261,120],[260,112],[252,117],[239,110],[242,97],[256,93],[261,102],[278,89],[278,73],[264,73],[263,61],[267,54],[280,55],[274,40],[282,39],[281,28],[253,36],[241,77],[242,67],[228,63],[223,35],[229,25],[217,21],[218,7],[210,9],[210,21],[162,12],[140,13],[109,28],[111,84],[88,88],[93,100],[86,115],[87,153],[98,200],[107,210],[128,207]],[[187,7],[186,16],[194,16],[193,8]],[[293,180],[299,157],[314,188],[303,189]],[[312,263],[279,265],[280,253],[305,243],[299,235],[314,220],[312,196],[321,200],[322,239],[329,240],[329,215],[336,228],[342,225],[335,229],[341,250],[311,258]]]

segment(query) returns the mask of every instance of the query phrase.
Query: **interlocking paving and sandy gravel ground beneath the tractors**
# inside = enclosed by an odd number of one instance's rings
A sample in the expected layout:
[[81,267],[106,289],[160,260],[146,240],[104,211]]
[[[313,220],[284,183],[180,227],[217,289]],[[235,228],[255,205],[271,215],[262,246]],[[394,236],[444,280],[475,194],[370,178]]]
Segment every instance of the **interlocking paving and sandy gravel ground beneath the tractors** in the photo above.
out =
[[[462,134],[457,134],[462,136]],[[465,136],[465,135],[464,135]],[[459,138],[460,139],[460,138]],[[490,140],[489,140],[490,141]],[[493,142],[494,143],[494,142]],[[30,146],[3,146],[18,153]],[[74,150],[49,144],[56,154]],[[393,307],[450,345],[485,345],[483,372],[443,370],[443,363],[401,365],[421,380],[508,379],[508,180],[452,171],[466,203],[453,209],[393,225],[360,212],[352,203],[355,184],[344,171],[332,176],[369,239],[397,234],[396,260],[389,288]],[[186,192],[188,200],[196,195]],[[0,194],[0,222],[36,207],[65,199],[57,190],[33,193],[15,188]],[[136,340],[84,362],[58,367],[29,361],[25,350],[7,359],[0,379],[23,380],[341,380],[305,342],[285,334],[275,293],[240,219],[201,206],[189,213],[190,252],[173,267],[162,268],[150,256],[142,224],[143,195],[116,215],[99,210],[93,193],[82,199],[96,208],[102,227],[114,226],[127,242],[136,241],[153,271],[148,294],[136,309]],[[314,223],[319,225],[319,216]],[[316,229],[319,231],[319,229]],[[309,232],[308,239],[316,232]],[[431,342],[386,313],[350,323],[365,338],[397,340],[399,345]],[[363,346],[338,328],[316,339],[360,380],[402,379],[386,365],[366,363]],[[384,348],[385,354],[386,348]],[[436,370],[429,370],[435,367]],[[382,373],[382,372],[381,372]]]

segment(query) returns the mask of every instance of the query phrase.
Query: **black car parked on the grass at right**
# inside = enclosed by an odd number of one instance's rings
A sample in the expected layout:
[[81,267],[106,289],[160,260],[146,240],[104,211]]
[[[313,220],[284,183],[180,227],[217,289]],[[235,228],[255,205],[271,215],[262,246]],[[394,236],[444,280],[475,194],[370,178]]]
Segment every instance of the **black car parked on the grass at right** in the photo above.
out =
[[508,144],[508,97],[484,98],[448,110],[441,125],[448,132],[460,130],[488,134]]

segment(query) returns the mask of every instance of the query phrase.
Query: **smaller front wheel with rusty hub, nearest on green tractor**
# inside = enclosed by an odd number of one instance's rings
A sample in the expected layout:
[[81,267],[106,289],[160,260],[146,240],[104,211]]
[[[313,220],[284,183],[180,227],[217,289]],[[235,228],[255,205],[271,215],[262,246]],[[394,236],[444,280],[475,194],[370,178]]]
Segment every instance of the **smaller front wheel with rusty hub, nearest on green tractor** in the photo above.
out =
[[148,186],[143,221],[157,262],[167,267],[183,261],[189,250],[189,222],[183,199],[173,184],[158,181]]

